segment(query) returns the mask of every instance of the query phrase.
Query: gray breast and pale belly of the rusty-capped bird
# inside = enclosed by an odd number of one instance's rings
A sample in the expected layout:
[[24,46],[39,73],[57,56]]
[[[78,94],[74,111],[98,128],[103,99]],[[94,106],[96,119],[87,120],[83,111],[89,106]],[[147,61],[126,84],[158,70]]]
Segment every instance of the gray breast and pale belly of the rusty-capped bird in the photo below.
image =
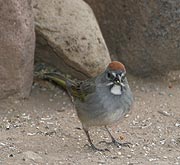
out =
[[133,98],[129,87],[117,96],[110,93],[109,87],[97,87],[96,92],[88,95],[85,102],[76,102],[79,119],[84,125],[109,125],[126,114]]

